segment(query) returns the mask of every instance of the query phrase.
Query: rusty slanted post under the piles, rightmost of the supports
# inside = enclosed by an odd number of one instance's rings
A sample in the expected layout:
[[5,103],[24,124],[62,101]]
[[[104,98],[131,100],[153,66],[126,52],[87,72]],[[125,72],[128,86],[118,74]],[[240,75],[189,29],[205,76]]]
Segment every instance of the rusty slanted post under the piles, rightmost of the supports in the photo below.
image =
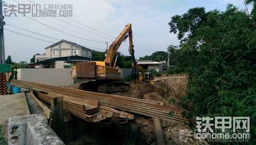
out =
[[162,145],[164,144],[164,135],[163,135],[160,120],[158,118],[153,118],[153,122],[154,122],[154,133],[156,136],[157,144]]

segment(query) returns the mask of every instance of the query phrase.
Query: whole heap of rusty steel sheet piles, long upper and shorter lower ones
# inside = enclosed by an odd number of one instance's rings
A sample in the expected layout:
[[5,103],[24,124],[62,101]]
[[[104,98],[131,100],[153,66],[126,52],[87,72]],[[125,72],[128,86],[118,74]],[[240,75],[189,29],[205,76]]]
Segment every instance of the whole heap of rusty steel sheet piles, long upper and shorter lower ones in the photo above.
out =
[[[102,94],[96,92],[89,92],[83,90],[75,90],[68,87],[55,87],[37,83],[26,82],[23,80],[12,80],[12,85],[29,88],[35,91],[44,92],[44,96],[41,97],[42,100],[49,102],[51,97],[62,96],[63,98],[63,108],[68,110],[71,114],[78,117],[81,116],[82,119],[90,120],[91,122],[106,120],[107,117],[111,116],[110,120],[116,123],[125,123],[127,119],[133,119],[132,114],[139,114],[148,117],[156,117],[159,119],[177,122],[177,123],[188,123],[188,119],[182,117],[182,112],[185,111],[180,108],[163,106],[162,102],[129,98],[125,96]],[[42,96],[42,93],[41,93]],[[40,98],[40,95],[38,95]],[[82,99],[81,103],[75,103],[74,100]],[[72,102],[73,101],[73,102]],[[91,101],[97,101],[98,105],[96,108],[98,112],[93,112],[94,114],[86,113],[86,106],[91,105]],[[78,101],[79,102],[79,101]],[[87,102],[87,103],[86,103]],[[94,106],[95,107],[95,106]],[[92,107],[93,108],[93,107]],[[95,109],[95,108],[94,108]],[[113,109],[113,110],[111,110]],[[87,110],[87,112],[91,110]],[[123,111],[126,111],[122,114]],[[127,113],[129,112],[129,113]],[[172,115],[168,115],[172,112]],[[114,114],[114,115],[113,115]],[[103,115],[100,119],[100,115]],[[122,118],[126,117],[126,119]]]

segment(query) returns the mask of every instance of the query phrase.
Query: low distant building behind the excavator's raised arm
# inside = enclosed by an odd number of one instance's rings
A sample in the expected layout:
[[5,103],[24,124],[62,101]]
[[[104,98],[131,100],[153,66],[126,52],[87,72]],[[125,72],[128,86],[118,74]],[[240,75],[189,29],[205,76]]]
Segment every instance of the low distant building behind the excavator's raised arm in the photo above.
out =
[[157,61],[137,61],[137,64],[143,67],[144,69],[148,70],[156,70],[157,72],[162,73],[163,71],[163,62],[157,62]]

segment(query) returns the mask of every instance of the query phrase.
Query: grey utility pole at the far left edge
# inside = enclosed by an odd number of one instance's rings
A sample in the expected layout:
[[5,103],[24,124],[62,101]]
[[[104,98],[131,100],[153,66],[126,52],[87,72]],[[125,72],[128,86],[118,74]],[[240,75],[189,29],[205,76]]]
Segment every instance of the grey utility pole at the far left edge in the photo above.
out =
[[2,5],[2,0],[0,0],[0,64],[5,63],[5,53],[4,53],[4,25],[5,22],[4,16],[3,16],[3,5]]

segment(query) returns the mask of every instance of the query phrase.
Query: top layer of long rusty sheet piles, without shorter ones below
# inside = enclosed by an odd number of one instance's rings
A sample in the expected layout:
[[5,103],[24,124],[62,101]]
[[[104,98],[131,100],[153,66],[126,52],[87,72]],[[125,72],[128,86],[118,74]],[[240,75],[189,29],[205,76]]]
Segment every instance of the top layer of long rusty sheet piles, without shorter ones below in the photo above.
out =
[[[22,80],[12,80],[11,84],[15,86],[29,88],[31,90],[67,96],[68,100],[70,100],[71,97],[93,100],[98,101],[100,106],[110,107],[121,111],[127,111],[134,114],[144,115],[153,118],[156,117],[159,119],[177,122],[181,124],[188,123],[188,119],[182,117],[182,112],[185,110],[176,107],[163,106],[162,102],[129,98],[125,96],[111,94],[102,94],[83,90],[74,90],[67,87],[54,87],[49,85],[26,82]],[[172,112],[172,115],[169,115],[170,112]]]

